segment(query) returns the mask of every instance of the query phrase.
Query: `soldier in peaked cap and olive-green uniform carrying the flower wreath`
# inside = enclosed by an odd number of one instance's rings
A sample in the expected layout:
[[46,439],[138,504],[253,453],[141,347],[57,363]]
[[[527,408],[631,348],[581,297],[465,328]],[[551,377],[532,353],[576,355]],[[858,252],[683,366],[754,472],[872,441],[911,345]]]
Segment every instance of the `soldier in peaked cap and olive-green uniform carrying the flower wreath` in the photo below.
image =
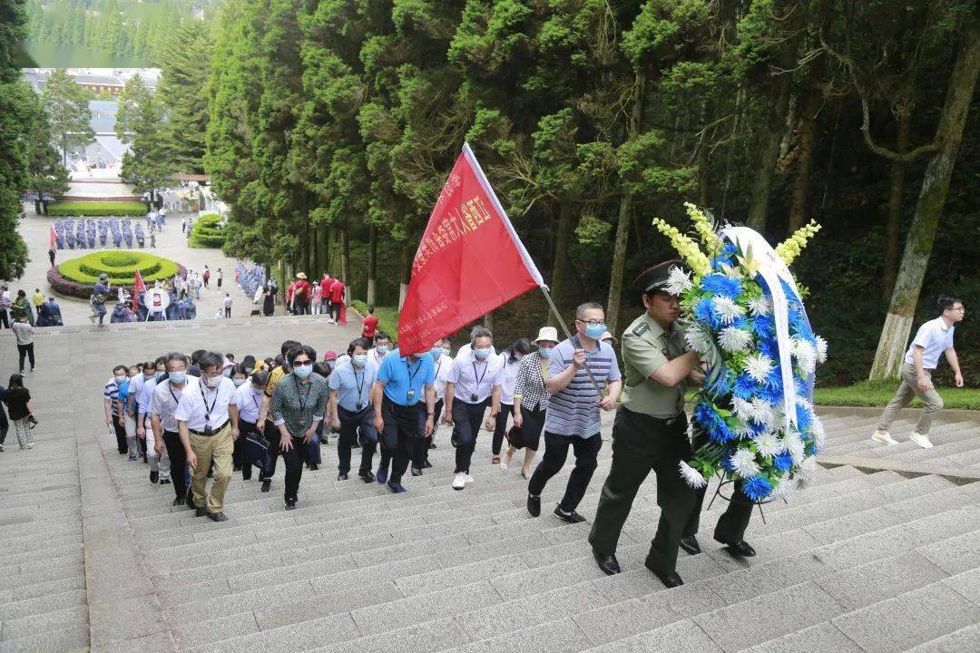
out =
[[666,293],[668,260],[635,281],[647,311],[622,336],[624,400],[613,425],[613,466],[603,486],[589,534],[593,555],[607,574],[619,573],[616,543],[636,492],[651,471],[657,474],[661,521],[646,566],[668,587],[683,584],[675,571],[677,547],[694,509],[695,490],[681,478],[678,463],[691,457],[684,392],[689,377],[700,378],[697,354],[687,350],[676,323],[680,307]]

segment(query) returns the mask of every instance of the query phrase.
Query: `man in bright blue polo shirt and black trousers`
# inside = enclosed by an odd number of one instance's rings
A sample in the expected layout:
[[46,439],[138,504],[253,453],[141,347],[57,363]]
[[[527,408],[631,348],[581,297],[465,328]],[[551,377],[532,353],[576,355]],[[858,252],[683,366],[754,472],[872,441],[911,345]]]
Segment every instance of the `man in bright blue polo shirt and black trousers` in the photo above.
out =
[[[434,383],[435,365],[427,351],[403,356],[396,349],[381,361],[371,392],[374,428],[381,441],[381,462],[376,476],[378,483],[387,481],[388,489],[393,492],[405,491],[402,475],[409,467],[413,438],[432,435]],[[389,478],[388,463],[392,459]]]

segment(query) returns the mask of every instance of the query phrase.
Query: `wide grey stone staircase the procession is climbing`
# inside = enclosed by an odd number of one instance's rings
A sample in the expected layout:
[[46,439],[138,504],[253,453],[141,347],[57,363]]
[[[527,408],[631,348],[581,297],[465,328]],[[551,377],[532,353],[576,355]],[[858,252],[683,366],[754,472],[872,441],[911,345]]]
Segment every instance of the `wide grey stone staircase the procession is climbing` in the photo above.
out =
[[[285,328],[227,324],[228,335],[218,326],[192,333],[259,353]],[[288,328],[334,349],[350,337]],[[169,486],[148,482],[145,465],[116,452],[91,387],[122,350],[168,349],[187,333],[72,338],[70,364],[58,368],[46,349],[39,359],[37,385],[61,380],[69,392],[37,399],[37,446],[17,451],[11,435],[0,454],[0,653],[977,650],[980,483],[885,468],[897,464],[892,454],[907,456],[902,465],[922,461],[907,443],[879,454],[879,468],[827,462],[812,487],[765,506],[764,522],[757,512],[747,534],[755,558],[732,558],[711,539],[724,508],[715,501],[702,520],[705,552],[681,553],[686,584],[668,590],[643,567],[660,515],[655,483],[645,484],[620,539],[623,573],[607,577],[592,560],[589,524],[550,513],[568,470],[531,518],[519,468],[489,465],[489,434],[463,491],[450,487],[443,429],[434,467],[407,477],[406,494],[334,481],[331,442],[320,469],[304,472],[297,510],[282,510],[280,471],[270,493],[236,476],[228,522],[194,517],[171,506]],[[4,369],[8,349],[0,343]],[[937,426],[930,451],[957,446],[935,459],[952,456],[968,470],[956,455],[980,449],[980,424],[954,417]],[[612,415],[606,422],[608,437]],[[826,412],[827,460],[874,458],[873,422]],[[579,508],[586,517],[610,455],[607,443]]]

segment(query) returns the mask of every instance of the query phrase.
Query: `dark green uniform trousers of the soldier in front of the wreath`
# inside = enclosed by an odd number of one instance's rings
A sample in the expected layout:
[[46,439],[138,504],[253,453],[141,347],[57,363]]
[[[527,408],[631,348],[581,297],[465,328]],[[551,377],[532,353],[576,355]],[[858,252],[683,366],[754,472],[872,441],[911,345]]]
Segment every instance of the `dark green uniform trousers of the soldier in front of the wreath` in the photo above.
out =
[[677,465],[690,457],[684,413],[664,420],[620,406],[613,425],[613,466],[589,533],[592,548],[615,552],[633,499],[652,471],[657,475],[661,519],[647,560],[662,575],[673,573],[677,547],[695,502],[695,490],[681,478]]

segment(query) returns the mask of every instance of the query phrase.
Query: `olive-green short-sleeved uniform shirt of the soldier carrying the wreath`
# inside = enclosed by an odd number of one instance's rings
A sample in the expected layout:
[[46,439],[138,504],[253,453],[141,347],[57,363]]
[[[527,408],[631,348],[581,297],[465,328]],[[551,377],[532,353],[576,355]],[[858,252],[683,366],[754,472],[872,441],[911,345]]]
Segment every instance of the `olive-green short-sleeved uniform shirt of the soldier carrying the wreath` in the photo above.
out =
[[686,349],[684,329],[676,322],[670,325],[669,331],[664,331],[648,312],[633,320],[622,335],[625,379],[622,405],[633,412],[662,419],[680,414],[684,410],[687,382],[668,388],[650,375]]

